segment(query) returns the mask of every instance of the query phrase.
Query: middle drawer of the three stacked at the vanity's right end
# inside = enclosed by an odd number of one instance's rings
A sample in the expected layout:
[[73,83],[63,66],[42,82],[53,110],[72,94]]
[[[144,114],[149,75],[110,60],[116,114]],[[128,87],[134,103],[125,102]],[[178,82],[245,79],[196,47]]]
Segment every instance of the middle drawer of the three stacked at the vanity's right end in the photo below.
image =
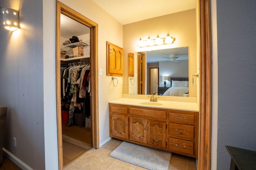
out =
[[193,140],[194,126],[169,123],[169,135],[180,139]]

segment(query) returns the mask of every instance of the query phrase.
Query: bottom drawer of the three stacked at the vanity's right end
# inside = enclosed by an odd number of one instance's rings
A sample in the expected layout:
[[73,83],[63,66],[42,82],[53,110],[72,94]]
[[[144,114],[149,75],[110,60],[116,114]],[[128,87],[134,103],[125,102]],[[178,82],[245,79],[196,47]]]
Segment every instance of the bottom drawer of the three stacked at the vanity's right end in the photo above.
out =
[[169,137],[169,149],[185,155],[194,155],[194,142]]

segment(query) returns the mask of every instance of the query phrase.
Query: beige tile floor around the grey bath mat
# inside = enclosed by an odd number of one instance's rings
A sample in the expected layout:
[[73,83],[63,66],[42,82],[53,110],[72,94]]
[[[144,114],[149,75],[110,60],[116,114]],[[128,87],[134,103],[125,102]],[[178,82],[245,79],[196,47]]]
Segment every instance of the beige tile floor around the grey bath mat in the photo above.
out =
[[[64,170],[145,170],[108,156],[122,141],[111,139],[99,149],[88,149],[64,166]],[[196,159],[172,153],[169,170],[196,170]]]

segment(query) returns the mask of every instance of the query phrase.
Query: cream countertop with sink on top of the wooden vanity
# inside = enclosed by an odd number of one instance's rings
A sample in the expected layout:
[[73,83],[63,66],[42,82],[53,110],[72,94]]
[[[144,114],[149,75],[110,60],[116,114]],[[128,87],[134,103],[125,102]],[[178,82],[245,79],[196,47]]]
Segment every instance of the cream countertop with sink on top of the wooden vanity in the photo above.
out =
[[141,106],[141,107],[154,107],[163,109],[175,109],[184,111],[198,111],[197,104],[195,102],[174,102],[174,101],[162,101],[150,102],[144,99],[134,99],[134,98],[120,98],[109,102],[111,104],[124,104],[130,106]]

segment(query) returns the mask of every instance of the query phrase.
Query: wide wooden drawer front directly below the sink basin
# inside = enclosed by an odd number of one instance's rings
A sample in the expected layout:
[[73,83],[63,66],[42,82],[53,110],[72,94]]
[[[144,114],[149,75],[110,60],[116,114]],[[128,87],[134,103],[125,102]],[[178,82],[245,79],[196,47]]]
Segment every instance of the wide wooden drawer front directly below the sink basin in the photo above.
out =
[[139,109],[130,107],[130,114],[132,115],[139,115],[139,116],[146,116],[146,117],[154,117],[154,118],[162,118],[166,119],[166,111],[159,111],[159,110],[150,110],[150,109]]

